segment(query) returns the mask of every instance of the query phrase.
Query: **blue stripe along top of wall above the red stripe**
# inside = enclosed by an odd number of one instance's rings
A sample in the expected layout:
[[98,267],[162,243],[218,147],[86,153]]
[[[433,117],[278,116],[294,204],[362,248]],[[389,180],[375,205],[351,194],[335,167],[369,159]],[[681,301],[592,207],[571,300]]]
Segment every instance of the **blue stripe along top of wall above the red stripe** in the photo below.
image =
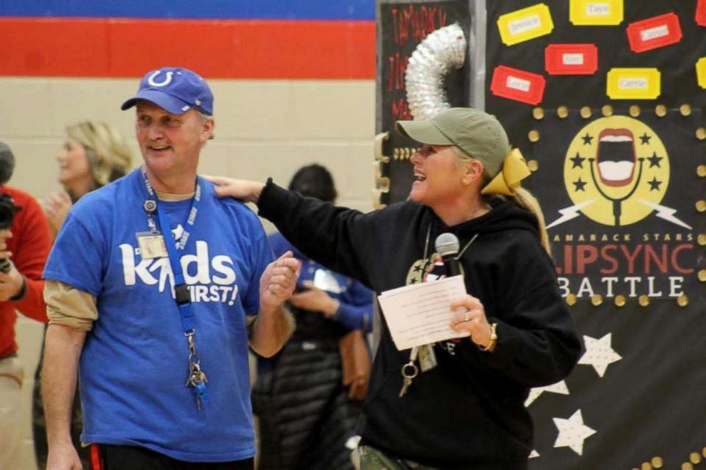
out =
[[0,0],[0,16],[373,20],[375,0]]

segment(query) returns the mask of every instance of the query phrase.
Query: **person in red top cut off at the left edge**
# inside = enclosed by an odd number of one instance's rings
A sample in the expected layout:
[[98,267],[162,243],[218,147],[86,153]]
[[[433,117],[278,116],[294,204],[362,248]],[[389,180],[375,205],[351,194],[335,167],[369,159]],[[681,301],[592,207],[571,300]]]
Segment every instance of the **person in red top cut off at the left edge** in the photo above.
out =
[[14,168],[9,146],[0,142],[0,469],[21,465],[21,388],[16,312],[46,321],[41,280],[51,247],[49,225],[39,203],[7,186]]

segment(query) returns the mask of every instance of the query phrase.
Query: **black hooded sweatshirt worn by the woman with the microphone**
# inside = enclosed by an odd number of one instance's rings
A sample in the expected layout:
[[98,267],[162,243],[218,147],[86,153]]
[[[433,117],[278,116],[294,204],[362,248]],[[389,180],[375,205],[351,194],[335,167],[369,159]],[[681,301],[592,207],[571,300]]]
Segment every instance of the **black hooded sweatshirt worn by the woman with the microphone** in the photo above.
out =
[[399,397],[409,350],[396,349],[383,319],[359,433],[364,444],[442,469],[526,468],[533,445],[527,394],[566,377],[581,349],[532,213],[495,201],[489,213],[447,227],[418,203],[363,214],[271,181],[258,208],[305,255],[378,294],[433,276],[438,234],[454,233],[462,250],[477,234],[460,263],[468,294],[497,323],[495,350],[480,351],[468,338],[436,343],[436,368],[419,373]]

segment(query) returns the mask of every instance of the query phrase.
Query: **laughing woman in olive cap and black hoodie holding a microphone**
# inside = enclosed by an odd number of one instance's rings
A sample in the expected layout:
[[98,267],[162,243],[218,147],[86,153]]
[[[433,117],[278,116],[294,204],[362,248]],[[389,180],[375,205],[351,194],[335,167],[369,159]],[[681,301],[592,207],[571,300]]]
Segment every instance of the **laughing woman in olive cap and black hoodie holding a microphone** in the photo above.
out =
[[520,183],[530,171],[500,122],[480,110],[452,108],[397,126],[421,145],[409,201],[363,214],[271,179],[214,178],[216,193],[256,202],[295,247],[378,294],[443,276],[434,240],[455,235],[468,294],[451,303],[449,326],[468,338],[399,351],[383,318],[357,429],[360,465],[527,469],[525,399],[566,377],[581,351],[541,208]]

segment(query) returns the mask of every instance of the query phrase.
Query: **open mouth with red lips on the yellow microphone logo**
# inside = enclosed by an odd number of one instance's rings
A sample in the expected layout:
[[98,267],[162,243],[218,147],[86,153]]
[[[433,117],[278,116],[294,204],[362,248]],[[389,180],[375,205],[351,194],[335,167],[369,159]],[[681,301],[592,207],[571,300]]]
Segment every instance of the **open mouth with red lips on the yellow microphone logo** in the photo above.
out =
[[635,172],[635,139],[628,129],[604,129],[599,134],[598,172],[606,186],[625,186]]

